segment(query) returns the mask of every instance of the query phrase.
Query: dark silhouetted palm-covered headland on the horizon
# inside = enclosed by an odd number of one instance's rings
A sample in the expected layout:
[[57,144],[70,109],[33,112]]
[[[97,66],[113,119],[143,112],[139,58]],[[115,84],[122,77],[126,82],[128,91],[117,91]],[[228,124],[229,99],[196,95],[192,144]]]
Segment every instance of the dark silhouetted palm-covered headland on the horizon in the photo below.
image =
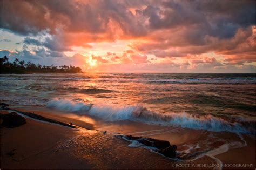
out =
[[41,64],[34,64],[31,62],[24,62],[24,60],[14,59],[14,62],[9,62],[9,58],[4,56],[0,58],[0,73],[10,74],[24,74],[24,73],[79,73],[82,72],[80,67],[74,67],[68,65],[47,65],[42,66]]

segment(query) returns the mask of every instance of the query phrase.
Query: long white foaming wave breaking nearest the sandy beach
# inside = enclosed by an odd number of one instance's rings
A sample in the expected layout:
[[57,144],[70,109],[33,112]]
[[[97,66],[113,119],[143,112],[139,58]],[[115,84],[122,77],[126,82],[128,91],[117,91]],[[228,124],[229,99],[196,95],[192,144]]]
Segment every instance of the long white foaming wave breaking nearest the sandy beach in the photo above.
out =
[[244,126],[241,122],[231,123],[210,114],[192,115],[185,112],[160,114],[140,105],[120,107],[102,103],[87,104],[64,99],[51,100],[46,106],[72,111],[79,115],[87,114],[99,117],[105,121],[131,120],[146,124],[192,128],[196,130],[255,134],[255,122],[253,122],[253,128],[251,128]]

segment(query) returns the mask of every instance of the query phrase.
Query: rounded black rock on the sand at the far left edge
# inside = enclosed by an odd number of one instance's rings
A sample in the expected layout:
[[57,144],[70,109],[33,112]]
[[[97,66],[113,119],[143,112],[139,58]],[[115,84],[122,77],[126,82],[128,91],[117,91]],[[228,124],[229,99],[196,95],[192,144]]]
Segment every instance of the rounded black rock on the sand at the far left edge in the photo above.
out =
[[6,127],[17,127],[26,124],[26,119],[15,112],[1,115],[2,124],[1,126]]

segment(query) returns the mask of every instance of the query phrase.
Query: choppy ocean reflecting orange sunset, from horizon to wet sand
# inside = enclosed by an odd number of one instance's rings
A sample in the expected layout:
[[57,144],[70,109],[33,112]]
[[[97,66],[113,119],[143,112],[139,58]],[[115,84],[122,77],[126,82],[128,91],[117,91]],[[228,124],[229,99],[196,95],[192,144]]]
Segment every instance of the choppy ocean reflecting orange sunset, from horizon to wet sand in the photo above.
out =
[[255,74],[1,74],[0,87],[4,103],[90,118],[113,134],[169,140],[180,160],[245,146],[244,135],[255,138]]

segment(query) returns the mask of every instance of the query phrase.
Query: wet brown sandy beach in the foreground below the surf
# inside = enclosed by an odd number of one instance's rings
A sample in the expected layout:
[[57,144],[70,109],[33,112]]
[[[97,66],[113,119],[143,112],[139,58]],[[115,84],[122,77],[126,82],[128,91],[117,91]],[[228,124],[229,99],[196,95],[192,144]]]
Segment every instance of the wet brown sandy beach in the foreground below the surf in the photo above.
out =
[[[28,111],[18,108],[21,111]],[[6,111],[1,111],[1,113]],[[161,168],[191,169],[197,165],[216,164],[203,157],[193,162],[178,162],[143,148],[128,147],[130,142],[95,129],[85,121],[30,110],[44,117],[72,122],[82,128],[69,128],[26,118],[26,124],[1,128],[1,169],[88,169],[88,168]],[[247,146],[217,155],[224,164],[255,166],[254,139],[245,137]],[[14,153],[11,155],[10,153]],[[199,169],[202,169],[199,167]],[[203,168],[205,169],[205,168]],[[208,167],[208,169],[214,169]],[[219,168],[217,168],[219,169]]]

